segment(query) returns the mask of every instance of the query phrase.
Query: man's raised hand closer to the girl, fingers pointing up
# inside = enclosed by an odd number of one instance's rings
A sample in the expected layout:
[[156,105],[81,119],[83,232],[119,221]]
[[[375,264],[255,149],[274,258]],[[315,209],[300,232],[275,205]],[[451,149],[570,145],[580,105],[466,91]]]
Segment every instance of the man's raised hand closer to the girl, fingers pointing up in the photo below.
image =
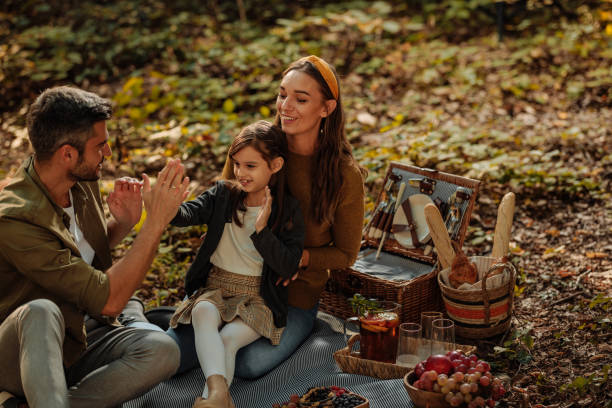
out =
[[147,221],[164,228],[176,215],[178,207],[187,198],[189,177],[183,177],[185,167],[181,161],[170,160],[151,186],[151,181],[143,174],[142,195],[147,210]]

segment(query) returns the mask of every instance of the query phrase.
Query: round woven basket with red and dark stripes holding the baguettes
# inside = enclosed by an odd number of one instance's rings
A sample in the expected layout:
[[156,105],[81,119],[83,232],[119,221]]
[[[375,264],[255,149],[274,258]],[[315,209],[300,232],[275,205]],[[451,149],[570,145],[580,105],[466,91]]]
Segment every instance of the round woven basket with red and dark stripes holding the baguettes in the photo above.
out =
[[[498,258],[469,258],[483,274],[480,289],[454,289],[444,282],[450,268],[438,274],[438,284],[446,313],[455,322],[455,333],[469,339],[487,338],[503,333],[510,327],[516,269],[510,262]],[[494,271],[507,271],[509,277],[495,288],[487,288],[487,279]]]

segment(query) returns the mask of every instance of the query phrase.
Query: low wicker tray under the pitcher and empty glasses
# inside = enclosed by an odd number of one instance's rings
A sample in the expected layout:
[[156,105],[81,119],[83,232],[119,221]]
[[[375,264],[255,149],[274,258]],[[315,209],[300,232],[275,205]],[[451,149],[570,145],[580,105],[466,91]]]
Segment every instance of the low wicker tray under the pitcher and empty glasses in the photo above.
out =
[[[393,378],[402,378],[414,369],[414,367],[404,367],[397,364],[367,360],[351,355],[351,349],[359,339],[359,334],[354,334],[348,340],[345,348],[334,353],[334,360],[336,360],[336,363],[343,372],[367,375],[369,377],[380,378],[381,380],[389,380]],[[476,351],[476,347],[462,344],[458,344],[457,349],[462,350],[465,354],[471,354]]]

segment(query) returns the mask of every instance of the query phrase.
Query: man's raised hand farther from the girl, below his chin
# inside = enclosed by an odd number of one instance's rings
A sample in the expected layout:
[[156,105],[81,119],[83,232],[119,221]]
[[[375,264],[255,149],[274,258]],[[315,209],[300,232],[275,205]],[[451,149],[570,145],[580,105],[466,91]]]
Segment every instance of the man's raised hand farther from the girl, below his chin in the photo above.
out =
[[115,181],[115,188],[108,195],[108,209],[117,223],[131,230],[142,214],[142,183],[130,177]]

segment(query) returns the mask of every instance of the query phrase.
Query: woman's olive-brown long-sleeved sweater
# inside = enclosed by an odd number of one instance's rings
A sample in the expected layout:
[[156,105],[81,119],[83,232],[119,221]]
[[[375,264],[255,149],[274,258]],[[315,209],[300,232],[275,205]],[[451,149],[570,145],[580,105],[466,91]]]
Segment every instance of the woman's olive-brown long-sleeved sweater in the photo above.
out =
[[[311,200],[312,166],[314,156],[289,153],[287,176],[289,190],[301,205],[306,238],[304,249],[310,252],[306,270],[289,285],[289,304],[303,309],[313,308],[329,278],[330,270],[347,268],[355,262],[361,243],[364,217],[364,184],[357,165],[342,167],[343,183],[340,200],[334,211],[333,222],[317,223],[312,219]],[[229,160],[223,169],[224,178],[233,178]]]

